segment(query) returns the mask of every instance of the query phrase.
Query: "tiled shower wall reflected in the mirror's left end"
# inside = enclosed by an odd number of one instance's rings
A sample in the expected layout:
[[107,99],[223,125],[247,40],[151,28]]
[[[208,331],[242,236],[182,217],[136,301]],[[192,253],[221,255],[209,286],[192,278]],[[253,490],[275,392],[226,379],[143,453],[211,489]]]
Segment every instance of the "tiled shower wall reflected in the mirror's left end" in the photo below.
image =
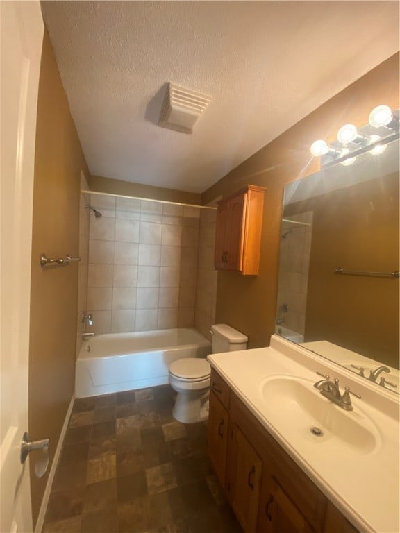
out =
[[[276,317],[283,319],[281,325],[304,335],[313,212],[286,218],[294,223],[282,223]],[[287,312],[282,309],[284,304]]]

